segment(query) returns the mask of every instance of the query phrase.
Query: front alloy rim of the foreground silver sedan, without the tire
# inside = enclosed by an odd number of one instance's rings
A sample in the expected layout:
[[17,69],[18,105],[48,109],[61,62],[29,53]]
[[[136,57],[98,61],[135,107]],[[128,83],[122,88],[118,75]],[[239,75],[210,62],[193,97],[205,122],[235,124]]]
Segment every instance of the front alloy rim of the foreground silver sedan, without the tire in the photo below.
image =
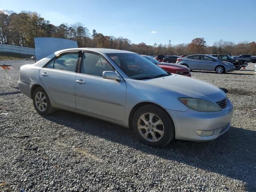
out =
[[144,113],[138,119],[138,131],[149,142],[157,142],[164,136],[164,123],[154,113]]

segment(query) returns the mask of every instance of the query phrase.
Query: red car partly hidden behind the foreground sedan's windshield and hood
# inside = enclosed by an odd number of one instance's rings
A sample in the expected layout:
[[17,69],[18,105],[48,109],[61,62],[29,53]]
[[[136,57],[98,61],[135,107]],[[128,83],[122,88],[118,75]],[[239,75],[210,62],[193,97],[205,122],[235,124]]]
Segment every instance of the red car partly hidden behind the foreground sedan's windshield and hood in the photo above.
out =
[[150,56],[147,55],[141,55],[144,58],[150,60],[152,63],[158,65],[162,69],[166,70],[167,72],[170,73],[175,73],[175,74],[180,74],[180,75],[185,75],[191,77],[191,73],[189,68],[183,66],[183,65],[176,65],[176,64],[170,64],[170,63],[164,63],[164,62],[159,62],[155,59],[153,59]]

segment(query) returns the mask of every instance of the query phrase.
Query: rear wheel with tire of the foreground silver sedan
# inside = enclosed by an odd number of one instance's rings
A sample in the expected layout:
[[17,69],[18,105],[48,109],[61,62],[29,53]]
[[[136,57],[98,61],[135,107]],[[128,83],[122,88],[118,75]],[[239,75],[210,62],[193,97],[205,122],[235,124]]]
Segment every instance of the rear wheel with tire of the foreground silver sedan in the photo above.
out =
[[34,108],[40,115],[49,115],[55,111],[52,108],[50,99],[42,87],[38,87],[34,90],[33,95]]

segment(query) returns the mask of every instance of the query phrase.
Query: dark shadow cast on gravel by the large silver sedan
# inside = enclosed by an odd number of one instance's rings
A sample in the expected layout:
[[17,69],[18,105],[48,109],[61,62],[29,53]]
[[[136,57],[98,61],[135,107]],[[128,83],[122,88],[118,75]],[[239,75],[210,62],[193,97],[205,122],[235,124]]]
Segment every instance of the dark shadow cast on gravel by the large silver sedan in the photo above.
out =
[[256,131],[231,127],[210,142],[173,140],[164,148],[145,146],[131,129],[88,116],[59,110],[44,118],[79,132],[116,142],[146,154],[184,163],[246,182],[246,190],[256,191]]

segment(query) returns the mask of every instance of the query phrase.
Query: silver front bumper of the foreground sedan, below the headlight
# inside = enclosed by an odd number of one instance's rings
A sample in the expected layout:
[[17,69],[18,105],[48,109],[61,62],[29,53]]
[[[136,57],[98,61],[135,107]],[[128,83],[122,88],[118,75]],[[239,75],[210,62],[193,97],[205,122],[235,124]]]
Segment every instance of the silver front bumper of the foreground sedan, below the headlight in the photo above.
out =
[[[186,112],[167,110],[175,126],[175,138],[189,141],[209,141],[224,134],[231,125],[233,105],[228,99],[227,106],[219,112],[198,112],[192,109]],[[199,136],[196,130],[213,130],[211,136]]]

